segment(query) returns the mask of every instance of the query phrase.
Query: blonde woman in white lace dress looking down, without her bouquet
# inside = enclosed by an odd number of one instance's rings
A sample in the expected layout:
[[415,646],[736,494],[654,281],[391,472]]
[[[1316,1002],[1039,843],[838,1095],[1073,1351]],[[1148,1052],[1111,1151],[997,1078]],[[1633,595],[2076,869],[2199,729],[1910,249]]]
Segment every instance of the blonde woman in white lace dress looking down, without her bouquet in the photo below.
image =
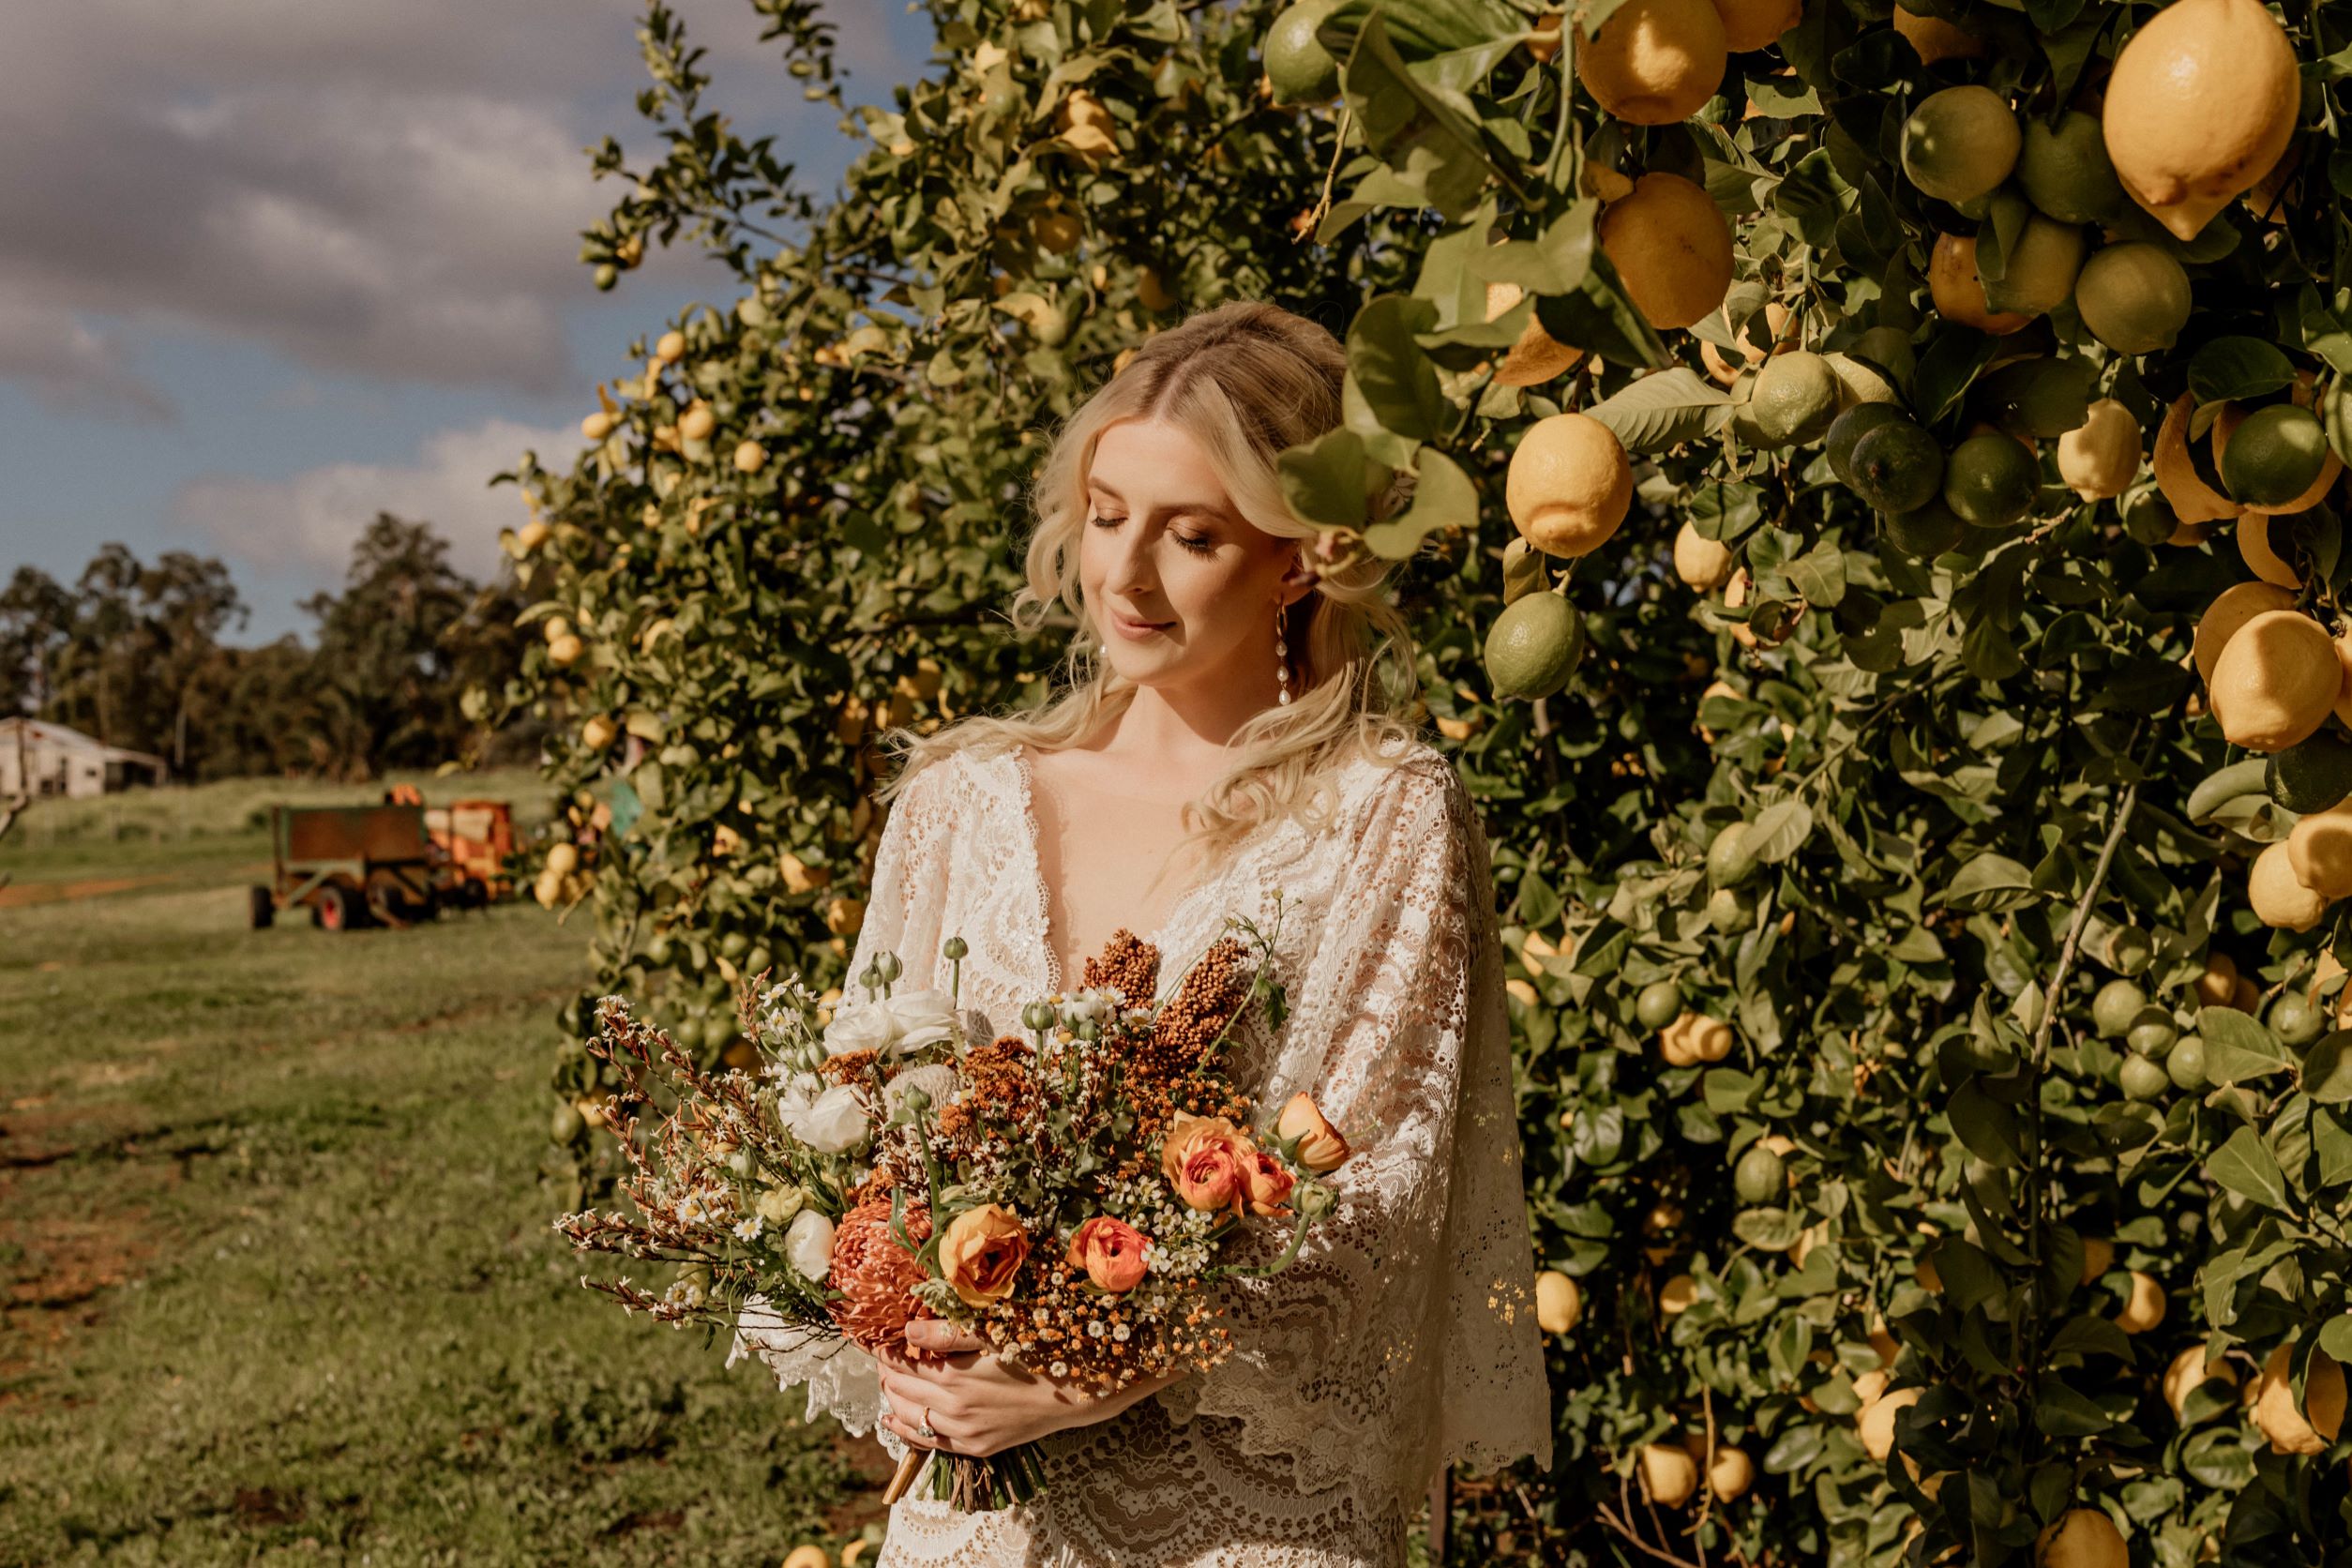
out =
[[1261,1107],[1308,1091],[1331,1119],[1355,1152],[1341,1208],[1289,1269],[1225,1286],[1232,1359],[1115,1396],[943,1321],[875,1359],[746,1319],[736,1354],[804,1382],[811,1415],[880,1422],[891,1458],[1042,1439],[1042,1495],[960,1514],[917,1481],[877,1568],[1390,1568],[1439,1467],[1550,1465],[1486,839],[1402,715],[1385,564],[1317,555],[1275,470],[1341,423],[1343,371],[1322,327],[1230,303],[1143,343],[1068,421],[1011,609],[1023,632],[1056,599],[1077,611],[1068,689],[894,731],[908,762],[849,959],[887,947],[896,990],[943,990],[960,936],[960,1004],[1009,1030],[1117,929],[1167,980],[1228,912],[1270,929],[1279,898],[1291,1011],[1237,1030],[1232,1072]]

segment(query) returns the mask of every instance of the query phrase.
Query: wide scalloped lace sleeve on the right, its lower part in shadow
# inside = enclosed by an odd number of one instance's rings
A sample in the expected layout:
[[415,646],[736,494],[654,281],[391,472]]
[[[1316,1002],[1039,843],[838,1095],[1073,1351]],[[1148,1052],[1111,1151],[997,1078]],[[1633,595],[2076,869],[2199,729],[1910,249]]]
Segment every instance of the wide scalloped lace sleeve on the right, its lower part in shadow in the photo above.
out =
[[1486,846],[1449,764],[1399,773],[1291,985],[1263,1107],[1303,1088],[1348,1138],[1341,1204],[1291,1267],[1230,1281],[1232,1359],[1160,1394],[1359,1507],[1418,1497],[1451,1460],[1550,1462]]

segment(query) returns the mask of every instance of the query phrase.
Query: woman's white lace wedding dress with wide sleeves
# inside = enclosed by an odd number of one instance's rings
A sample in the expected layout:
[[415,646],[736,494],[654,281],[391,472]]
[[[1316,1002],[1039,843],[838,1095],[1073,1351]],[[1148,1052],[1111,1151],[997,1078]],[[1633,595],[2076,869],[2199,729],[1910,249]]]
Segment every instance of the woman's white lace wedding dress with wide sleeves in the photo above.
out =
[[[997,1032],[1082,983],[1047,950],[1033,783],[1021,748],[964,750],[910,780],[875,849],[851,976],[887,947],[898,987],[948,987],[938,947],[962,936],[960,1001]],[[1336,790],[1329,827],[1256,827],[1138,936],[1167,990],[1228,912],[1270,929],[1282,891],[1291,1016],[1270,1037],[1263,1016],[1235,1030],[1235,1079],[1261,1117],[1303,1088],[1338,1126],[1355,1150],[1334,1178],[1341,1208],[1289,1269],[1235,1281],[1230,1361],[1044,1439],[1049,1486],[1023,1507],[957,1514],[920,1479],[877,1568],[1395,1568],[1439,1465],[1550,1465],[1486,839],[1428,745],[1348,764]],[[861,1004],[849,985],[842,1006]],[[746,1316],[739,1354],[804,1382],[811,1415],[877,1429],[866,1352],[788,1349]]]

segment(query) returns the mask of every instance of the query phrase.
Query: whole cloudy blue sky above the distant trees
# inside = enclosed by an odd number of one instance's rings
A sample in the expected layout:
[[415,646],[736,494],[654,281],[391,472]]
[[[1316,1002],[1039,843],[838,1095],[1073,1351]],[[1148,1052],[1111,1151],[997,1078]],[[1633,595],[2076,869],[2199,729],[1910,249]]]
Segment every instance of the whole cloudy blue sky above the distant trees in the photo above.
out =
[[[854,143],[743,0],[675,0],[710,101],[816,190]],[[920,75],[929,19],[826,0],[849,103]],[[635,0],[73,0],[0,52],[0,578],[108,541],[223,557],[233,642],[308,632],[376,510],[475,576],[520,517],[485,482],[576,440],[623,346],[724,270],[649,259],[597,294],[581,153],[647,146]],[[19,153],[38,150],[35,158]]]

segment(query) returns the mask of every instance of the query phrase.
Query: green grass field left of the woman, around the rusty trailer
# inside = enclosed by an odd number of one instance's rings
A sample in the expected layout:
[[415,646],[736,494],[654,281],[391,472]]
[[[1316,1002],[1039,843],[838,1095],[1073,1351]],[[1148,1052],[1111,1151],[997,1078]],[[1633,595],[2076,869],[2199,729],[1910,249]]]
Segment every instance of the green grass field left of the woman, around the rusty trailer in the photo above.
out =
[[45,802],[0,844],[0,1566],[774,1568],[868,1528],[870,1439],[581,1291],[550,1232],[583,936],[247,931],[268,799],[374,792]]

